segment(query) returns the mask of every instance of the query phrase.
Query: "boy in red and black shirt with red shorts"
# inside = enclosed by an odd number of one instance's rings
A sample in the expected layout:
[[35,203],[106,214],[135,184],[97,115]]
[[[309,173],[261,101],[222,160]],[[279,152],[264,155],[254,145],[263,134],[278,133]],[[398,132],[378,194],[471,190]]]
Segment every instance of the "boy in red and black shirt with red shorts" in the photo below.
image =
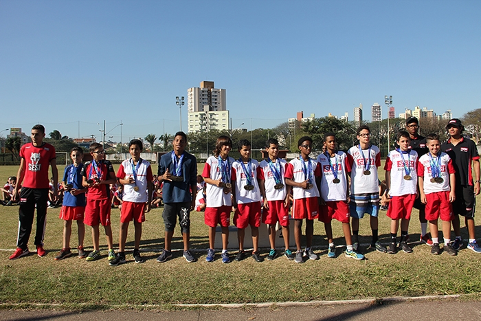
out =
[[95,261],[100,258],[99,224],[102,224],[109,246],[109,261],[115,259],[113,252],[112,228],[110,226],[110,184],[115,183],[115,173],[111,162],[104,160],[104,148],[102,144],[93,143],[90,145],[90,155],[93,159],[87,162],[82,168],[82,185],[88,188],[87,204],[85,206],[84,223],[92,227],[93,251],[89,253],[87,261]]

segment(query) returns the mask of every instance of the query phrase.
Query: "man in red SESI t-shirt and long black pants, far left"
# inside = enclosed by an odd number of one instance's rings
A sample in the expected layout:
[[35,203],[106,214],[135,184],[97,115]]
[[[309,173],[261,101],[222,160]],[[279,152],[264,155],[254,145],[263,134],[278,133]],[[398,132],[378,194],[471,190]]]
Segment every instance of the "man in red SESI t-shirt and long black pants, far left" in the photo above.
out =
[[[13,190],[12,199],[19,199],[19,234],[16,241],[16,251],[10,260],[29,254],[28,239],[34,223],[36,207],[36,254],[40,257],[47,252],[43,250],[43,236],[45,234],[45,218],[47,216],[47,201],[49,193],[48,168],[52,167],[54,177],[54,200],[57,198],[58,170],[54,146],[43,142],[45,127],[36,124],[32,127],[31,143],[20,148],[20,166],[16,174],[18,181]],[[22,186],[23,183],[23,186]],[[19,195],[19,188],[21,193]]]

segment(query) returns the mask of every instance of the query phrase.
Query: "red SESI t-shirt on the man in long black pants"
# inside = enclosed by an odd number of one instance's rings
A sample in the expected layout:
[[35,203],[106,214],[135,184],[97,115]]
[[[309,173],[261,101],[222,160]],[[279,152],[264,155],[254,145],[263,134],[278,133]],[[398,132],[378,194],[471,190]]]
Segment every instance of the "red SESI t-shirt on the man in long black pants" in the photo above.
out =
[[20,157],[25,159],[23,186],[27,188],[49,188],[48,168],[56,158],[55,147],[44,143],[42,146],[25,144],[20,148]]

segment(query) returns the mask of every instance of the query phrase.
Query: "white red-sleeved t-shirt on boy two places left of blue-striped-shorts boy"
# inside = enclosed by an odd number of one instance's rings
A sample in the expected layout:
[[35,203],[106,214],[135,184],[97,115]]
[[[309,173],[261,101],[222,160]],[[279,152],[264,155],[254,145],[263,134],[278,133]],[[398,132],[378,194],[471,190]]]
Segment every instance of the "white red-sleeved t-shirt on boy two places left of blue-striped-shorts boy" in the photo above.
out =
[[[317,160],[311,159],[311,184],[312,187],[308,189],[300,188],[297,186],[292,187],[292,194],[293,199],[307,199],[309,197],[319,197],[319,190],[317,189],[317,184],[315,184],[315,177],[321,176],[321,167],[317,163]],[[287,164],[286,174],[284,175],[285,178],[292,179],[296,183],[302,183],[309,177],[304,175],[304,163],[306,168],[309,168],[308,162],[304,161],[304,159],[300,159],[300,157],[295,157],[294,159]]]

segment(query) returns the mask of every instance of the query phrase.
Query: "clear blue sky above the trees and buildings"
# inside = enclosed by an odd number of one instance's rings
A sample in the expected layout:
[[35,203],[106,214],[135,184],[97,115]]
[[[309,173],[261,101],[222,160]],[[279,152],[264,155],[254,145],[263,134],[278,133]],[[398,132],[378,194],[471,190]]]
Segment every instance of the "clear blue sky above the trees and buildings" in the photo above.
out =
[[117,141],[121,122],[124,141],[175,133],[175,96],[202,80],[227,90],[234,128],[297,111],[352,120],[359,103],[370,118],[384,95],[396,115],[461,117],[481,107],[479,12],[481,1],[0,0],[0,130],[100,137],[106,120]]

